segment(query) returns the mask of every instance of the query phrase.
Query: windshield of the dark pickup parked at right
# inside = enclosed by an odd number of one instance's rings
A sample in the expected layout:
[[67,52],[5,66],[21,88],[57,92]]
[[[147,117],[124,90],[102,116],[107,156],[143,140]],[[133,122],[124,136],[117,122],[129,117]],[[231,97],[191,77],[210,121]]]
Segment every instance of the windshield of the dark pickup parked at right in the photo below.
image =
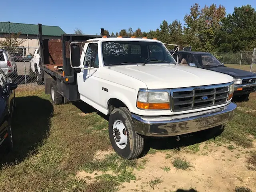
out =
[[224,66],[211,54],[194,54],[200,66]]

